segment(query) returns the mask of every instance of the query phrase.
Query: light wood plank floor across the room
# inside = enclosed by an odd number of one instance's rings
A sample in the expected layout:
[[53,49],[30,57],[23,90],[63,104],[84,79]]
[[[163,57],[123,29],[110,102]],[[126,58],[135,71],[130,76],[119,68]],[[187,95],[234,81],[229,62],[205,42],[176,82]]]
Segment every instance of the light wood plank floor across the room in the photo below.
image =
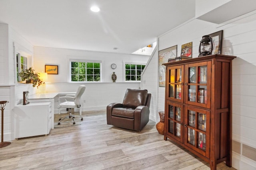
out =
[[[0,149],[1,170],[209,170],[208,163],[164,141],[155,123],[141,132],[106,124],[105,110],[84,112],[81,125],[52,129],[48,136],[12,141]],[[234,170],[224,163],[218,170]]]

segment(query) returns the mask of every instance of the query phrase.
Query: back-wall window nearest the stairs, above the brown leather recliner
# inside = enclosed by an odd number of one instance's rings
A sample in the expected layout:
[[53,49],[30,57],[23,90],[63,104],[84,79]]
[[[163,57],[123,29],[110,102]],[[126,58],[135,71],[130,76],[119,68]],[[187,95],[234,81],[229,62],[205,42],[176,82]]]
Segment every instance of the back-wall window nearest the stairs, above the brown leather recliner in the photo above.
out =
[[125,80],[140,81],[145,64],[125,63]]

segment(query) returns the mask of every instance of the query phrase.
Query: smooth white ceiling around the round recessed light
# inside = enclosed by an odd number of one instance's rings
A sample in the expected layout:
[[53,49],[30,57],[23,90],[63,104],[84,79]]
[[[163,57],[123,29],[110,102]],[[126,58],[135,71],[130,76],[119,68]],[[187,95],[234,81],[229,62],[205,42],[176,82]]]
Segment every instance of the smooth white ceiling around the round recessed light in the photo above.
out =
[[0,23],[32,45],[89,51],[130,54],[194,16],[195,0],[0,0]]

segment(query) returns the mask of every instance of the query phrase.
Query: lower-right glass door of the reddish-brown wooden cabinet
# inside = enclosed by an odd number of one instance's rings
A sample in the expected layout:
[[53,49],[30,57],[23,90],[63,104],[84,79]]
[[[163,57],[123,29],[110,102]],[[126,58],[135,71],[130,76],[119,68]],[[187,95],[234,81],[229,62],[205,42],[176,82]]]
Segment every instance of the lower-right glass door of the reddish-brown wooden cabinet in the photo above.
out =
[[185,106],[184,143],[202,155],[210,156],[210,111]]

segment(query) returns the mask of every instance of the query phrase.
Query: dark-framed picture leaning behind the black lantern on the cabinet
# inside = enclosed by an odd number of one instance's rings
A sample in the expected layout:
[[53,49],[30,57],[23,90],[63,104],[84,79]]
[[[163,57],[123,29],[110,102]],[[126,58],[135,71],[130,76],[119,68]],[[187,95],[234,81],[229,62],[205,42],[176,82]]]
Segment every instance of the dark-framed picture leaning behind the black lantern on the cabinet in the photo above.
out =
[[221,54],[223,30],[209,34],[214,44],[212,54]]

